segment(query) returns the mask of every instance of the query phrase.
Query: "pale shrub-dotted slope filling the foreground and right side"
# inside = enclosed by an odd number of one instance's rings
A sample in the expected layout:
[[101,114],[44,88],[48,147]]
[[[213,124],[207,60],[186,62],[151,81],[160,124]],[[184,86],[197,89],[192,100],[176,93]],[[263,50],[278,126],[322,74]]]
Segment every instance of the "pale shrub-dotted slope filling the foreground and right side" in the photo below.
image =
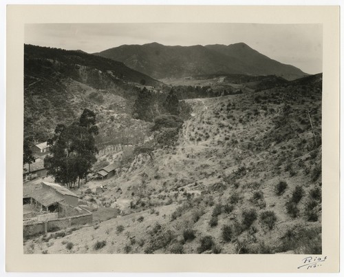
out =
[[320,254],[316,81],[186,102],[191,117],[173,149],[133,156],[100,195],[78,192],[120,216],[34,238],[37,247],[29,239],[24,252]]

